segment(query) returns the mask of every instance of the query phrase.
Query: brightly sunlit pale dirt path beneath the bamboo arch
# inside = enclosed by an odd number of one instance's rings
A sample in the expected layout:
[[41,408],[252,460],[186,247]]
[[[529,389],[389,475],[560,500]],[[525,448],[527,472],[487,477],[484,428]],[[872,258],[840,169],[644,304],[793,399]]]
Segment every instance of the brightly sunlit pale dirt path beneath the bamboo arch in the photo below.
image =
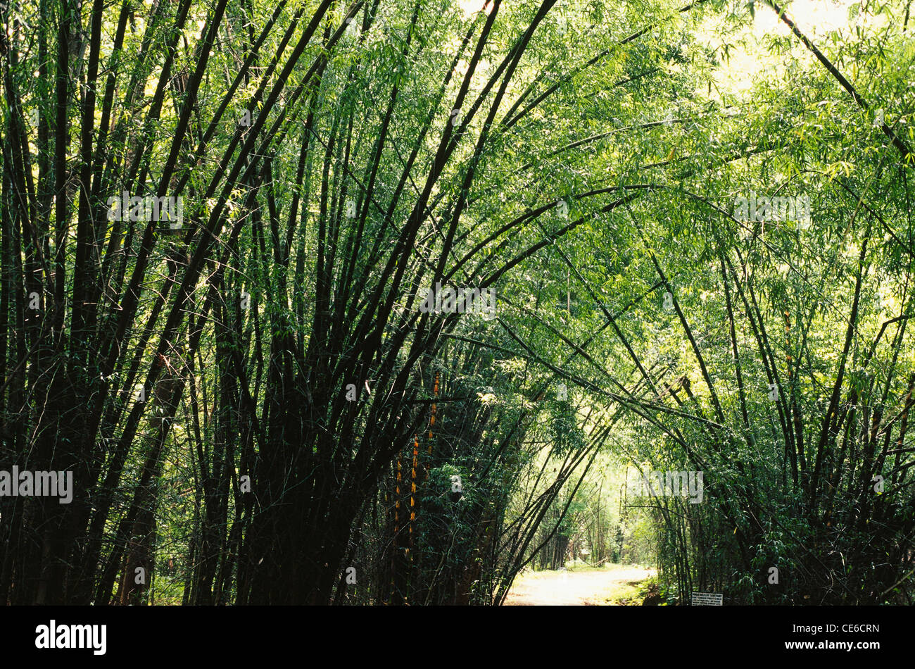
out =
[[505,606],[603,606],[635,603],[640,583],[656,575],[642,566],[530,571],[515,578]]

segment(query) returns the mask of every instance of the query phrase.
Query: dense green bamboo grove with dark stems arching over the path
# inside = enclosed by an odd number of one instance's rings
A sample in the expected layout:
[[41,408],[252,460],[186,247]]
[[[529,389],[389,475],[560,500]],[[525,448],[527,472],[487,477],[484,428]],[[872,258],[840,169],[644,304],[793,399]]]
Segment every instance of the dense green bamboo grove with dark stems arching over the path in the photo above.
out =
[[0,600],[500,604],[611,452],[705,473],[622,492],[679,599],[910,603],[915,43],[854,9],[0,4],[0,469],[73,473]]

